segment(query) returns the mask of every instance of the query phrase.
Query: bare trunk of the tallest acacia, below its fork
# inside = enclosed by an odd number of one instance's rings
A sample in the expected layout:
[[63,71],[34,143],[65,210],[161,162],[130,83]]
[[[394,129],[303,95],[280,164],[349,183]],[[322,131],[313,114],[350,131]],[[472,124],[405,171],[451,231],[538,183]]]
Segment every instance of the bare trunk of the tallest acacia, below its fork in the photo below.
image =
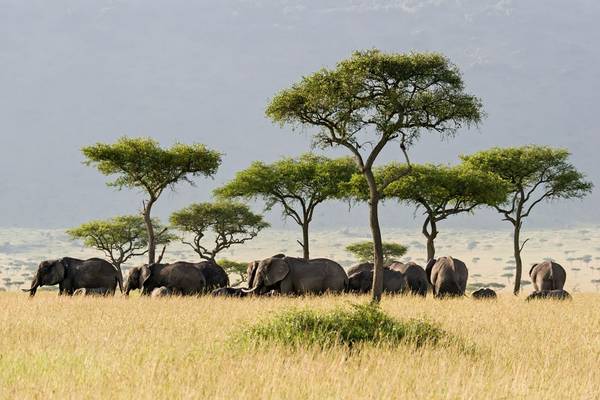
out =
[[367,169],[364,171],[365,178],[369,185],[369,224],[373,235],[373,288],[372,301],[379,303],[383,293],[383,242],[381,239],[381,228],[379,227],[379,192],[373,171]]

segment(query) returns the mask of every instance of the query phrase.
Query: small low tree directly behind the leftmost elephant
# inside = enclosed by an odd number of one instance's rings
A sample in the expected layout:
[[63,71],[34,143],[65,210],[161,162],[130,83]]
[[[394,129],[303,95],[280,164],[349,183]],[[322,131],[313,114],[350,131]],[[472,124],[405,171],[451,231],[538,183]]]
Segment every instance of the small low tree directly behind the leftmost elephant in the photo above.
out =
[[[167,245],[176,237],[168,233],[167,228],[162,227],[156,220],[152,221],[152,225],[158,232],[156,244],[163,245],[164,254]],[[73,240],[83,241],[84,246],[102,251],[119,269],[130,258],[148,253],[146,223],[144,218],[138,215],[86,222],[77,228],[69,229],[67,234]]]

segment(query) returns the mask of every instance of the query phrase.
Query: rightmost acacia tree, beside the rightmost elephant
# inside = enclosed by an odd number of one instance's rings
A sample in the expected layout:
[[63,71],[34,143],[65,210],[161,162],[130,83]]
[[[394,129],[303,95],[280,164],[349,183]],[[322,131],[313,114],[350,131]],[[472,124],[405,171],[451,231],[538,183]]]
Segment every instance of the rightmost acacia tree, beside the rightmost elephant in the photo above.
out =
[[494,208],[513,226],[515,295],[522,284],[521,252],[529,240],[521,241],[521,228],[533,208],[545,200],[583,198],[592,190],[592,183],[568,161],[569,156],[567,150],[546,146],[492,148],[462,156],[466,164],[496,174],[508,187],[507,200]]

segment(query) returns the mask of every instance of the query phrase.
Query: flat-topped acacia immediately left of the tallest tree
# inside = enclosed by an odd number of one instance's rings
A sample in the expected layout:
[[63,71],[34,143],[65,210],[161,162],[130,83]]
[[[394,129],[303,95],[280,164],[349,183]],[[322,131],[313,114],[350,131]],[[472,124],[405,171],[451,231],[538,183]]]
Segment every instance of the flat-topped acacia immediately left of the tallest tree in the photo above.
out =
[[309,226],[315,208],[329,199],[339,198],[340,185],[348,182],[356,166],[350,158],[329,159],[314,154],[284,158],[272,164],[260,161],[236,174],[215,191],[221,198],[262,199],[266,210],[276,204],[283,215],[302,227],[303,257],[310,258]]

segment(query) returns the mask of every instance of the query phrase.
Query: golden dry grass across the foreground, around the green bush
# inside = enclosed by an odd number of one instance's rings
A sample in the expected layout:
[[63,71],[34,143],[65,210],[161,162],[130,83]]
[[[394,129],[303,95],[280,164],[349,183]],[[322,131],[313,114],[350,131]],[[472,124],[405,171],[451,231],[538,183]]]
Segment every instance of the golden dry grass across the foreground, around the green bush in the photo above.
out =
[[367,297],[65,298],[0,293],[0,398],[600,398],[600,296],[387,297],[460,346],[242,346],[245,324]]

